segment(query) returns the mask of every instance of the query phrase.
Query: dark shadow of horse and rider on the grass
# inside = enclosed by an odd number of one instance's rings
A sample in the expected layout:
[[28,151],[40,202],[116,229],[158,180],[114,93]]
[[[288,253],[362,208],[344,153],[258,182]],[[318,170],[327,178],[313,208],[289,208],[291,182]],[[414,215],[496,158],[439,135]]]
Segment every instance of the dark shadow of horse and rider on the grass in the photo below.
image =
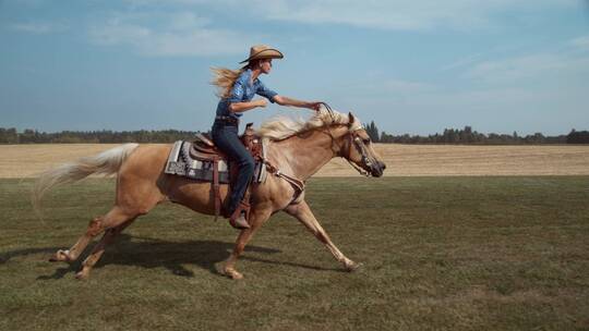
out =
[[[106,265],[139,266],[146,269],[164,267],[176,275],[190,278],[194,277],[194,272],[184,268],[183,265],[195,265],[205,270],[209,270],[212,273],[220,275],[221,273],[217,270],[216,263],[226,260],[233,249],[233,246],[235,243],[219,241],[169,242],[158,238],[120,234],[116,242],[107,247],[105,255],[103,255],[103,258],[95,266],[95,269],[99,269]],[[60,248],[62,249],[63,247],[28,248],[2,253],[0,254],[0,265],[8,262],[13,257],[33,254],[44,254],[49,258],[49,256]],[[83,259],[89,254],[91,249],[92,245],[88,245],[86,250],[80,256],[79,260],[69,262],[67,266],[56,269],[52,274],[39,275],[37,280],[61,279],[70,272],[80,270]],[[262,254],[280,253],[279,249],[253,245],[245,246],[245,254],[248,252]],[[336,268],[322,268],[287,261],[274,261],[243,255],[240,259],[313,270],[342,271]]]

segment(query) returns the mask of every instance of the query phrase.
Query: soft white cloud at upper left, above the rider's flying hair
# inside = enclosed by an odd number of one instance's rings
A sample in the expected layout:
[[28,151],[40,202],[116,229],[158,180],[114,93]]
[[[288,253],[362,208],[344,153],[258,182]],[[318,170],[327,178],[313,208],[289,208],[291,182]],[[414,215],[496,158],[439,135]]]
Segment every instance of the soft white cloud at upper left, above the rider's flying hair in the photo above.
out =
[[[159,23],[157,28],[147,23]],[[208,20],[191,12],[175,14],[115,14],[93,26],[93,42],[130,46],[145,56],[215,56],[242,53],[251,36],[229,29],[207,27]]]

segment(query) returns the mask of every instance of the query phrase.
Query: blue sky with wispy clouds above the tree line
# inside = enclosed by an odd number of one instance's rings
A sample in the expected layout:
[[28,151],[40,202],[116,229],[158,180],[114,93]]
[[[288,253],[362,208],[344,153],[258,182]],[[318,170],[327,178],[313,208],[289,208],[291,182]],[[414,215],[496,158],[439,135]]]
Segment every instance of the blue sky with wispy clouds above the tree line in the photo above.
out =
[[[209,68],[255,44],[268,87],[388,133],[589,130],[582,0],[0,0],[0,126],[208,130]],[[309,111],[244,120],[276,114]]]

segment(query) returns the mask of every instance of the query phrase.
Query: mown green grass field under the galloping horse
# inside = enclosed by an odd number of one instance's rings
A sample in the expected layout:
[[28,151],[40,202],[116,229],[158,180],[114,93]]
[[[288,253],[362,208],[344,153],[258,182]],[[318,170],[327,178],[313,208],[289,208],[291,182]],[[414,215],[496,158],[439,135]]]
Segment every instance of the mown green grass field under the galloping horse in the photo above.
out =
[[308,200],[347,273],[274,216],[219,274],[237,232],[164,205],[91,279],[51,263],[113,200],[112,180],[0,181],[0,330],[588,330],[589,177],[313,179]]

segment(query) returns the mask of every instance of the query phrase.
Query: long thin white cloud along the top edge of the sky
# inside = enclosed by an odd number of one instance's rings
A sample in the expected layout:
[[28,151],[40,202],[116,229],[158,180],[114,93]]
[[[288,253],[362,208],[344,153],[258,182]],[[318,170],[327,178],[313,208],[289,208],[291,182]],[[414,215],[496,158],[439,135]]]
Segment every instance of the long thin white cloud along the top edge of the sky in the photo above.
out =
[[[579,7],[578,0],[127,0],[135,8],[153,5],[215,7],[249,13],[254,19],[309,24],[335,23],[393,30],[501,27],[497,15]],[[524,19],[522,19],[524,20]]]

